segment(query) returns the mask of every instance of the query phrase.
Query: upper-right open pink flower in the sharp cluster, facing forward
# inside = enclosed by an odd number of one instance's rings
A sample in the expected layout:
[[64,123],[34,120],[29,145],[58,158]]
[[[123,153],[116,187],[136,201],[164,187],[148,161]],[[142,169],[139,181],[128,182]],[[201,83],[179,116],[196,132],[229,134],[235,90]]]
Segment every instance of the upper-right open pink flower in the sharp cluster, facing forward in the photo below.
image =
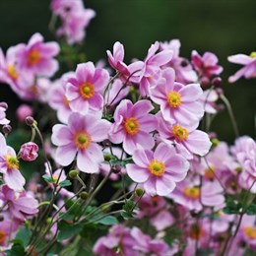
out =
[[194,126],[204,115],[204,105],[200,101],[203,91],[199,84],[174,82],[173,69],[162,71],[158,85],[151,89],[151,98],[160,104],[160,111],[166,120],[175,120],[180,125]]

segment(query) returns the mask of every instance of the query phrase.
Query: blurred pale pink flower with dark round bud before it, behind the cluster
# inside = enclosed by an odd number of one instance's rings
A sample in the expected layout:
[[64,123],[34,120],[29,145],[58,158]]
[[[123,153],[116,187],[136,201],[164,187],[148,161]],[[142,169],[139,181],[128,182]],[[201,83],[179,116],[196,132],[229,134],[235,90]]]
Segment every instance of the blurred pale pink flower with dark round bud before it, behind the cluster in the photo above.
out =
[[176,82],[182,84],[194,83],[198,79],[197,74],[189,61],[179,56],[180,45],[179,39],[160,42],[161,50],[173,51],[172,59],[164,67],[171,67],[175,70]]

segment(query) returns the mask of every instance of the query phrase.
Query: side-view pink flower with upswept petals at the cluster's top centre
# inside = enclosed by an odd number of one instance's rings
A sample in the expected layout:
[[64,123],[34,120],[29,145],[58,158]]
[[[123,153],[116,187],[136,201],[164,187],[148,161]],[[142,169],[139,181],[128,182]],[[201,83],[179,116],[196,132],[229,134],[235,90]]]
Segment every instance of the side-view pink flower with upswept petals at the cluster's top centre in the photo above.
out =
[[[168,63],[172,58],[172,50],[162,50],[157,53],[159,48],[160,42],[156,41],[148,50],[148,55],[143,63],[141,61],[137,61],[128,67],[130,73],[140,70],[139,73],[134,74],[134,77],[138,77],[137,79],[140,85],[141,96],[149,96],[150,88],[155,86],[160,79],[160,67]],[[136,82],[136,79],[133,80],[133,78],[131,78],[131,81]]]

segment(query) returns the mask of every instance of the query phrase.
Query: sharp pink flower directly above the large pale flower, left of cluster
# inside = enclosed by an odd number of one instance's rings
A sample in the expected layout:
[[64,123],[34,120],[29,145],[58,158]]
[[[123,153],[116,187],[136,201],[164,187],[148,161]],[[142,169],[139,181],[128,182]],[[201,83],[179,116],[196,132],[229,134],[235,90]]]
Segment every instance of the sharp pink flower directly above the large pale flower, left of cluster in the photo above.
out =
[[89,109],[98,111],[103,107],[103,90],[109,81],[104,69],[97,69],[93,62],[79,64],[76,78],[70,78],[66,97],[73,111],[87,114]]

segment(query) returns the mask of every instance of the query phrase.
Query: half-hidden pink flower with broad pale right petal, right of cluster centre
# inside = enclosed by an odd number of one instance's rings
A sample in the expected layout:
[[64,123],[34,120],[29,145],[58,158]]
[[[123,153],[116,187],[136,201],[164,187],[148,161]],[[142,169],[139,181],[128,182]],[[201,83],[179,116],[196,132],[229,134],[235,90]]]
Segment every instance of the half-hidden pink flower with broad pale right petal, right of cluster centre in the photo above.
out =
[[174,143],[178,152],[187,152],[191,159],[193,155],[205,156],[211,149],[212,143],[207,133],[196,130],[196,127],[184,127],[178,123],[171,123],[163,119],[162,114],[158,114],[158,131],[160,138],[165,143]]

